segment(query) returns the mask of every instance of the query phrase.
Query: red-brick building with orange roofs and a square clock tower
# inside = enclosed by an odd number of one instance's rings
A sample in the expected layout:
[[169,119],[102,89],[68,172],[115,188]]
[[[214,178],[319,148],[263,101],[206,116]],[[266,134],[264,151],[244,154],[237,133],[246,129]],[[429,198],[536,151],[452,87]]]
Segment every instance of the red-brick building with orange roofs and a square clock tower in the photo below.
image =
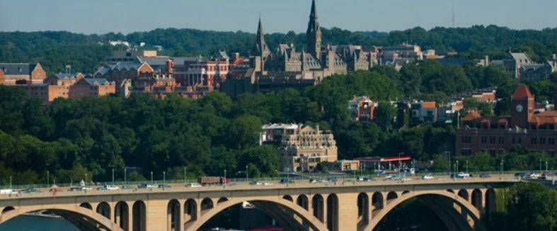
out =
[[456,131],[456,155],[486,152],[491,157],[522,145],[555,157],[557,111],[536,111],[534,96],[520,85],[511,97],[510,116],[485,117],[471,111]]

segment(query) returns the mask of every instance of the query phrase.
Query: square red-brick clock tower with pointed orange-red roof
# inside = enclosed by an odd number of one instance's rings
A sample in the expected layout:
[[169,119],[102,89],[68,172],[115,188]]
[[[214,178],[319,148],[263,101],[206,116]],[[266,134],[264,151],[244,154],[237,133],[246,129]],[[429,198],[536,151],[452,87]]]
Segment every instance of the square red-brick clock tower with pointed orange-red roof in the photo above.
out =
[[510,99],[510,122],[512,128],[528,128],[529,118],[534,116],[536,103],[526,85],[517,87]]

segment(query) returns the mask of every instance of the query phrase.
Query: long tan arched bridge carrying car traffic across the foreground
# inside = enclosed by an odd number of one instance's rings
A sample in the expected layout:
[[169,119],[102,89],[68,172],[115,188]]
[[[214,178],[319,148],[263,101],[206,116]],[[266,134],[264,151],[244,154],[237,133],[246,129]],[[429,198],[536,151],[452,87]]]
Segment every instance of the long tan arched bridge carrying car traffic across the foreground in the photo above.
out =
[[0,195],[0,223],[49,210],[80,230],[198,230],[226,208],[248,201],[284,230],[373,230],[396,205],[418,197],[449,230],[483,230],[495,210],[493,184],[516,179],[372,181],[336,184],[211,186]]

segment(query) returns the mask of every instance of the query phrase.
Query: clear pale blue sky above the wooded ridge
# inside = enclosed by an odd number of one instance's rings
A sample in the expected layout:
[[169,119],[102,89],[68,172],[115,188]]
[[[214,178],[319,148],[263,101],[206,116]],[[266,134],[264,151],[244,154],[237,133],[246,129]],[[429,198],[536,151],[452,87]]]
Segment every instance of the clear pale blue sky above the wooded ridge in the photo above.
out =
[[[2,0],[0,31],[132,33],[155,28],[305,32],[311,0]],[[420,26],[557,27],[556,0],[316,0],[321,27],[406,30]]]

